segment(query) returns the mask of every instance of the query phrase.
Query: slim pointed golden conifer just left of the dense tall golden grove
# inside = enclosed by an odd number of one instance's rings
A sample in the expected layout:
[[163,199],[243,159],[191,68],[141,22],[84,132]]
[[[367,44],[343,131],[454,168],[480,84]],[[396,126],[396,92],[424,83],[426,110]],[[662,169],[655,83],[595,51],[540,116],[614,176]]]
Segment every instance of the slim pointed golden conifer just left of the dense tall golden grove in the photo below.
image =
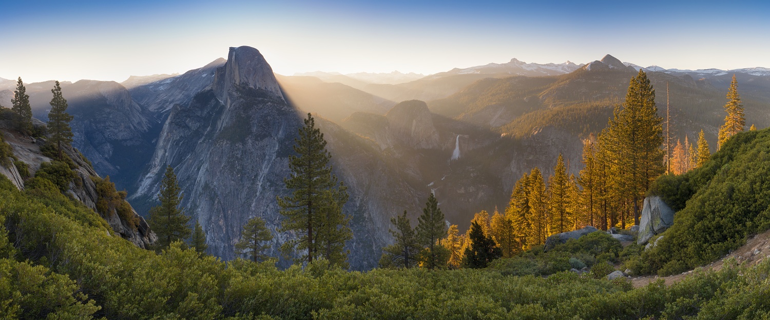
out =
[[564,233],[570,231],[574,222],[567,213],[569,206],[567,193],[569,190],[569,177],[567,168],[564,167],[564,157],[559,157],[554,167],[554,175],[548,179],[548,200],[551,208],[551,232]]

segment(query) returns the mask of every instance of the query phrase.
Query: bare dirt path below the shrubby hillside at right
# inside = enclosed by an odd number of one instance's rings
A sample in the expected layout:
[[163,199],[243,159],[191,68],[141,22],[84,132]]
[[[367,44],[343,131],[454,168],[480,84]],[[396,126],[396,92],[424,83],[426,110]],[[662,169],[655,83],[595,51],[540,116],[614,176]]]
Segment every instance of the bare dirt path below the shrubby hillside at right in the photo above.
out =
[[[705,270],[719,270],[724,264],[725,259],[735,258],[739,263],[746,264],[748,266],[754,266],[762,261],[762,259],[770,259],[770,230],[765,233],[758,234],[746,242],[746,244],[733,252],[730,252],[727,256],[722,257],[716,262],[703,266]],[[692,271],[683,272],[678,275],[669,275],[666,277],[658,277],[658,275],[648,275],[638,278],[632,278],[634,288],[643,287],[650,282],[655,282],[658,279],[664,279],[666,285],[679,282],[681,279],[685,279],[688,275],[691,275]]]

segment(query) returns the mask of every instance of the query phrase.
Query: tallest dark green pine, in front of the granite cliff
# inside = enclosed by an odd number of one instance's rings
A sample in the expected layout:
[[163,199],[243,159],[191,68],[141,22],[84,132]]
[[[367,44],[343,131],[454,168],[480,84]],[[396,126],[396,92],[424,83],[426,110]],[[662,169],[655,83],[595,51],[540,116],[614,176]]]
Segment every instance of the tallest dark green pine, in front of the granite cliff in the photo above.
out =
[[[281,207],[280,213],[286,216],[281,230],[294,231],[299,235],[297,239],[284,243],[282,249],[285,252],[306,250],[305,256],[300,259],[310,263],[319,253],[334,257],[345,255],[342,252],[343,242],[350,239],[347,235],[350,229],[346,226],[349,219],[341,216],[347,193],[332,174],[329,165],[331,154],[326,150],[326,140],[316,128],[311,114],[307,114],[304,124],[299,130],[299,137],[294,139],[296,156],[289,157],[290,176],[283,180],[286,188],[293,192],[290,196],[276,196],[276,200]],[[335,258],[335,261],[340,259]]]

